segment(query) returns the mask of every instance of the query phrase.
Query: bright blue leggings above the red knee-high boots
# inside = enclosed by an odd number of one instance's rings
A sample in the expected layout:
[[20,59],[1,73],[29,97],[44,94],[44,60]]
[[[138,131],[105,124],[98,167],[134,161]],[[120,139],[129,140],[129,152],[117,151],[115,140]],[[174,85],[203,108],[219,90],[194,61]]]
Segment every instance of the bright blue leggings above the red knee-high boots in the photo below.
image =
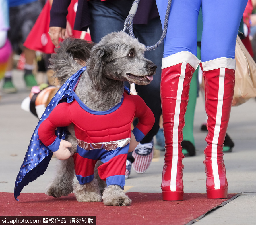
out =
[[[168,0],[156,0],[162,26]],[[235,58],[236,36],[247,0],[172,0],[164,57],[177,52],[197,54],[197,18],[202,5],[202,62]]]

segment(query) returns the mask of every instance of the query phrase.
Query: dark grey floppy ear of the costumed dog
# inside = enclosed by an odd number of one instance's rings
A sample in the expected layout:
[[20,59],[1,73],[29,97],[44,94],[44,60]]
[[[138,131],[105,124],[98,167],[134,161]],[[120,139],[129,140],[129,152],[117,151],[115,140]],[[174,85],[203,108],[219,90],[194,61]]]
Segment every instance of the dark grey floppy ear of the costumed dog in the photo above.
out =
[[92,48],[90,58],[86,63],[88,75],[96,90],[102,90],[107,85],[106,78],[104,77],[106,58],[107,54],[104,47],[95,45]]

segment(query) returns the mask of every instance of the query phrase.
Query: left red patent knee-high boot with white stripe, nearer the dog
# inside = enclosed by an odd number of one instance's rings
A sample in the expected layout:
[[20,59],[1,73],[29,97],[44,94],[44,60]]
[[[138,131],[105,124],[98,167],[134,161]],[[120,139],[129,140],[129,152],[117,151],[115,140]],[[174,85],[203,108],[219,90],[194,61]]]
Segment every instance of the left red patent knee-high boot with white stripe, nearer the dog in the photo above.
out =
[[162,61],[161,103],[166,151],[161,188],[164,201],[183,200],[182,130],[189,86],[199,62],[187,51],[165,57]]

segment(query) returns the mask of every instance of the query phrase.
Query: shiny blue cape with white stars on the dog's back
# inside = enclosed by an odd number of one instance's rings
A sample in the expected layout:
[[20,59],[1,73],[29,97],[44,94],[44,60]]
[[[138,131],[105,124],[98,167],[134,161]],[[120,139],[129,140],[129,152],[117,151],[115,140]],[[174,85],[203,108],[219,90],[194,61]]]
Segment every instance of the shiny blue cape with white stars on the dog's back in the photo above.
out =
[[[40,124],[48,118],[51,111],[58,105],[58,103],[66,99],[65,101],[72,102],[74,100],[72,92],[76,87],[80,75],[83,71],[86,70],[86,67],[83,67],[75,74],[73,74],[59,89],[59,91],[53,96],[49,105],[46,107],[44,114],[40,118],[36,129],[31,137],[30,143],[28,145],[28,150],[26,152],[24,162],[20,167],[20,171],[16,178],[15,187],[14,187],[14,197],[18,201],[17,197],[20,195],[21,190],[24,186],[28,185],[29,182],[34,181],[40,175],[44,174],[46,168],[51,160],[53,153],[49,148],[47,148],[38,137],[38,128]],[[55,135],[61,139],[64,139],[67,134],[66,127],[59,127],[55,130]]]

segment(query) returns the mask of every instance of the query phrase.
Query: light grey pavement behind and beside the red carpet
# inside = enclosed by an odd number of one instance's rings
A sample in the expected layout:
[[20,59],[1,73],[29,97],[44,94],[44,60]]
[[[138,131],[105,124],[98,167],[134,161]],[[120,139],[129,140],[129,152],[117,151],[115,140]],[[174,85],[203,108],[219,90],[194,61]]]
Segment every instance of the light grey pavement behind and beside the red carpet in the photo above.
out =
[[[38,119],[20,108],[28,96],[22,72],[16,70],[13,82],[18,88],[15,94],[2,94],[0,100],[0,192],[13,192],[14,182],[23,162],[30,138]],[[0,84],[2,86],[2,84]],[[224,155],[229,193],[242,193],[228,204],[206,214],[196,224],[256,224],[256,101],[250,99],[238,107],[232,107],[228,134],[235,147]],[[206,133],[200,131],[205,120],[202,95],[197,99],[194,136],[196,156],[183,160],[184,192],[205,193],[204,148]],[[155,151],[148,171],[136,174],[133,170],[126,180],[127,192],[161,192],[164,152]],[[24,187],[22,192],[44,192],[52,178],[56,159],[53,158],[44,173]]]

